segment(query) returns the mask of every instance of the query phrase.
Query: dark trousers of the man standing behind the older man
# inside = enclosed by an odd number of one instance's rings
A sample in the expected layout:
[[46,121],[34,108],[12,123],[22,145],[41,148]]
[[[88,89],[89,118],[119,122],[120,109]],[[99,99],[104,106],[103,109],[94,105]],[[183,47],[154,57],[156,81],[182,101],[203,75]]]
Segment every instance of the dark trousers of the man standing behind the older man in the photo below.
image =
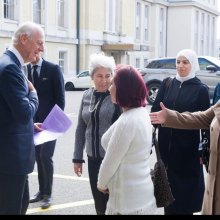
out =
[[51,196],[53,186],[53,155],[56,141],[49,141],[35,148],[39,192],[41,195]]

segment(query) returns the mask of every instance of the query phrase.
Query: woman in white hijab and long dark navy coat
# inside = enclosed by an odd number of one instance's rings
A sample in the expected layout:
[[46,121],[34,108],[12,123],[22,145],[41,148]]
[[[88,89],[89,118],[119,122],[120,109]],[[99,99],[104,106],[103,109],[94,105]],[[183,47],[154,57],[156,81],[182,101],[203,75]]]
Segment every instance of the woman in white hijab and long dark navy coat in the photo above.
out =
[[[151,112],[159,111],[160,102],[178,112],[203,111],[210,107],[208,87],[197,77],[196,53],[181,50],[176,56],[176,76],[161,84]],[[164,208],[165,215],[193,215],[201,211],[204,195],[203,167],[200,163],[200,130],[159,127],[161,157],[175,201]]]

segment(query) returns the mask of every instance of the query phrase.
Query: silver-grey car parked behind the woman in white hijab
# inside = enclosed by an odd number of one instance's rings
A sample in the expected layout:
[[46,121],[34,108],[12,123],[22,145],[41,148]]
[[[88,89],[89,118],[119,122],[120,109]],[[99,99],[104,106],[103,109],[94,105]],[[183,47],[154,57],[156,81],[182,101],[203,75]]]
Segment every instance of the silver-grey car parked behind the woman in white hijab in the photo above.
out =
[[[200,71],[196,73],[196,76],[209,87],[210,99],[212,99],[215,86],[220,82],[220,60],[211,56],[199,56],[198,59]],[[151,59],[147,66],[140,70],[140,73],[148,88],[147,101],[153,104],[163,79],[176,75],[176,58]]]

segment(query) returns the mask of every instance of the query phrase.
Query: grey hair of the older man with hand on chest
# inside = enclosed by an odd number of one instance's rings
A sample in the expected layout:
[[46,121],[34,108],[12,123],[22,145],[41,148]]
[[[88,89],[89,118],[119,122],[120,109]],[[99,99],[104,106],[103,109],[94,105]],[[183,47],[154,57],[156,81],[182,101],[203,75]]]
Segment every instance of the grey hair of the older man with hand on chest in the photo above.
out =
[[33,33],[35,33],[36,31],[39,31],[44,36],[44,30],[39,24],[30,21],[24,22],[15,31],[14,36],[12,37],[12,43],[14,45],[17,45],[19,42],[19,37],[22,34],[26,34],[28,37],[31,38]]

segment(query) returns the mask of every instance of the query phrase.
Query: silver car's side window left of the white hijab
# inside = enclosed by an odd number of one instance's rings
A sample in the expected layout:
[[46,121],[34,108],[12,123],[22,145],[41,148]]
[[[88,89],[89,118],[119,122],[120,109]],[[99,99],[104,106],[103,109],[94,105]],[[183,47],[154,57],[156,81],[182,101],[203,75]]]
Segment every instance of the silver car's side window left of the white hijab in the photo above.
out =
[[176,59],[153,60],[146,68],[150,69],[176,69]]

